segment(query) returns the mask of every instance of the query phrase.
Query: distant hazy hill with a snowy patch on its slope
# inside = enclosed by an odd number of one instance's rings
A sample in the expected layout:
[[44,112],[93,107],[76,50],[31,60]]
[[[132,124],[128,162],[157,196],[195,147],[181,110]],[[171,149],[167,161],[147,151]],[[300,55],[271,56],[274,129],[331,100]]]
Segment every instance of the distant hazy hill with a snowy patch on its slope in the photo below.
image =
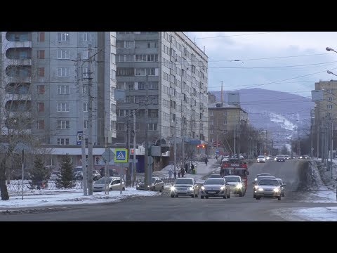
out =
[[[221,91],[210,92],[220,101]],[[228,92],[239,92],[241,107],[248,112],[251,125],[272,134],[275,148],[297,137],[297,129],[300,136],[310,129],[310,110],[315,105],[310,98],[267,89],[241,89],[224,91],[225,103]]]

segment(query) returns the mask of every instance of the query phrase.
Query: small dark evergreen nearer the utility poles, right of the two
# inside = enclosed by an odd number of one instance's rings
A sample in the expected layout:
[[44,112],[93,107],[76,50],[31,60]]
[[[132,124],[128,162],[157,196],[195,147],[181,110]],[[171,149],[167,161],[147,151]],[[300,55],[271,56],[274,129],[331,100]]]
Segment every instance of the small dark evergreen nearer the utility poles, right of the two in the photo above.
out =
[[55,180],[56,188],[70,189],[76,186],[76,178],[74,176],[74,165],[70,160],[70,155],[66,154],[62,158],[61,175]]

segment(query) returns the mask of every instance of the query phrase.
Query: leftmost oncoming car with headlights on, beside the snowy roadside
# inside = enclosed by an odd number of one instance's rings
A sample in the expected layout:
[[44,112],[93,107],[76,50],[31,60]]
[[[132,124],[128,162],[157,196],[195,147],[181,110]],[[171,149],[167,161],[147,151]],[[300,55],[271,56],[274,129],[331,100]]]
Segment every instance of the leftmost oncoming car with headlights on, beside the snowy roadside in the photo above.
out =
[[198,197],[199,188],[193,178],[178,178],[171,186],[171,197],[179,195]]

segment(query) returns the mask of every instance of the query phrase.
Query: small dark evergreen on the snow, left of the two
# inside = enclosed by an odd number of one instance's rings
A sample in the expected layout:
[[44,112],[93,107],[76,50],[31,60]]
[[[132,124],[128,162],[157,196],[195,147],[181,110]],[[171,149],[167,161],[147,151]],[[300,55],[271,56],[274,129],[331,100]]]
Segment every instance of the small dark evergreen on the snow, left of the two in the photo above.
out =
[[44,159],[41,155],[35,157],[34,167],[30,170],[30,181],[29,187],[31,189],[41,188],[41,186],[46,186],[48,183],[50,171],[44,166]]

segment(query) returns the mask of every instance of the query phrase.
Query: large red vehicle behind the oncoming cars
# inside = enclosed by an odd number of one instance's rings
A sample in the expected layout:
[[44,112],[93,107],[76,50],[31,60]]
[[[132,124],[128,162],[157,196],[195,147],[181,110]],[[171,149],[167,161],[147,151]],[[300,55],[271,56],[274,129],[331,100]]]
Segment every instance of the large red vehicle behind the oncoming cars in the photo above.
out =
[[230,159],[226,162],[223,162],[220,167],[221,176],[241,176],[241,180],[244,183],[245,189],[247,189],[248,181],[247,176],[249,175],[248,166],[246,162],[243,162],[239,159]]

